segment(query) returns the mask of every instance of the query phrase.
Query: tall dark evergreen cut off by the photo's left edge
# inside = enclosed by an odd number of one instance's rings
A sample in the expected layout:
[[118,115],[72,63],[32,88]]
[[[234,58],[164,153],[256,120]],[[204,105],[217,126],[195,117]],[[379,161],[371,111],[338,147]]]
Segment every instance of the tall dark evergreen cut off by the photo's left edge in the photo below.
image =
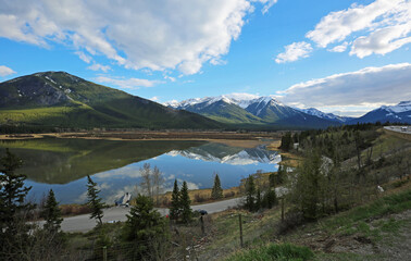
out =
[[0,159],[0,252],[5,259],[18,259],[17,256],[7,258],[4,253],[16,253],[15,248],[28,241],[30,226],[26,223],[25,211],[34,206],[25,203],[27,192],[32,187],[25,187],[25,175],[15,171],[22,165],[22,160],[5,150],[5,156]]

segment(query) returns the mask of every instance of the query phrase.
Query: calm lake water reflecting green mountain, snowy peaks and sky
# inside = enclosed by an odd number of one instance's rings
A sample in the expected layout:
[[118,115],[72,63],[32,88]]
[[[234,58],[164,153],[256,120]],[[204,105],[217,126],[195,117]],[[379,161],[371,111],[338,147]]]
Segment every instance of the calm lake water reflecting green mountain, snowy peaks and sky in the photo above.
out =
[[277,170],[281,158],[264,145],[242,148],[208,141],[144,140],[115,141],[90,139],[0,140],[4,148],[23,159],[20,173],[33,186],[28,199],[38,201],[50,188],[60,203],[83,203],[87,175],[99,185],[100,196],[113,203],[141,183],[145,163],[157,166],[164,178],[164,190],[174,179],[186,181],[190,189],[211,188],[214,172],[223,188],[238,186],[240,179],[258,170]]

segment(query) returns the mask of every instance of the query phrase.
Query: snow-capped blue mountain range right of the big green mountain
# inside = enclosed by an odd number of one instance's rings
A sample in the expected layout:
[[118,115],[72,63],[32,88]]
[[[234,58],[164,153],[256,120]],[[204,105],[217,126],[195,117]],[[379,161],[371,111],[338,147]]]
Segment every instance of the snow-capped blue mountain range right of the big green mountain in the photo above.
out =
[[273,97],[219,96],[167,102],[178,110],[186,110],[208,116],[222,123],[257,124],[265,126],[325,127],[340,124],[411,121],[411,101],[398,105],[382,107],[361,117],[338,116],[324,113],[315,108],[299,109],[288,107]]

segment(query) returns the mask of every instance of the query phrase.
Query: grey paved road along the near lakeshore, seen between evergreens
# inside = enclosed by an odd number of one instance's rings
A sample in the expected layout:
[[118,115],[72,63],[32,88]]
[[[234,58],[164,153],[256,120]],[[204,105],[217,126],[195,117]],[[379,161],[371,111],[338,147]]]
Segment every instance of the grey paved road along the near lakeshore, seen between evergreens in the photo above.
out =
[[[198,204],[191,206],[192,210],[205,210],[209,213],[215,213],[226,210],[227,208],[237,207],[240,203],[241,199],[228,199],[213,203],[207,204]],[[158,211],[162,215],[166,215],[169,213],[169,209],[158,209]],[[104,209],[104,216],[102,221],[111,222],[111,221],[126,221],[126,214],[128,214],[129,208],[125,207],[113,207],[109,209]],[[61,224],[61,228],[64,232],[87,232],[90,231],[92,227],[96,226],[96,221],[90,220],[90,214],[83,214],[83,215],[75,215],[65,217]],[[42,222],[39,223],[40,225]]]

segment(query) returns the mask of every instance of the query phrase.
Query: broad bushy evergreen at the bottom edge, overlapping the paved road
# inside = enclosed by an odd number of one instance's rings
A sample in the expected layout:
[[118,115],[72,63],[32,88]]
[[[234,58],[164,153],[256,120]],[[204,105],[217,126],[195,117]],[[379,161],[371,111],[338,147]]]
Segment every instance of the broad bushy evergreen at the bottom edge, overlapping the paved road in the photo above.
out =
[[130,260],[157,260],[159,243],[169,238],[165,219],[154,210],[152,199],[142,195],[127,214],[122,234]]

